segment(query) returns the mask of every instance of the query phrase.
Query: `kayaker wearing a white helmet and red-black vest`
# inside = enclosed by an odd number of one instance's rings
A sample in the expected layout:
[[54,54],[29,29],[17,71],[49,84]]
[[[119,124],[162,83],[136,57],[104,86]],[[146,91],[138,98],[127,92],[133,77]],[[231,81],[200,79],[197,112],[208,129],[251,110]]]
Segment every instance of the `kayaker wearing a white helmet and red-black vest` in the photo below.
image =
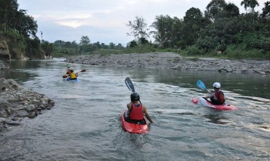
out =
[[211,103],[213,104],[223,104],[225,102],[224,94],[219,88],[221,87],[219,82],[214,82],[213,83],[213,89],[214,92],[211,92],[209,89],[207,89],[208,93],[204,98],[210,98]]

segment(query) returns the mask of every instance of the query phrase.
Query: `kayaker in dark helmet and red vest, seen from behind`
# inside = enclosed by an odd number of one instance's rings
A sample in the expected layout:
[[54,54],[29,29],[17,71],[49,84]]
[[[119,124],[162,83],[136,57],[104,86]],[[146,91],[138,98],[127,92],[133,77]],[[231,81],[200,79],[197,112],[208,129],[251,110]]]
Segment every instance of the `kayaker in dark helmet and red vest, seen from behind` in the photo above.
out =
[[131,120],[143,120],[145,114],[146,118],[153,123],[150,115],[147,112],[147,108],[142,105],[139,101],[139,94],[137,92],[132,92],[130,94],[131,102],[127,103],[126,106],[129,111],[129,119]]

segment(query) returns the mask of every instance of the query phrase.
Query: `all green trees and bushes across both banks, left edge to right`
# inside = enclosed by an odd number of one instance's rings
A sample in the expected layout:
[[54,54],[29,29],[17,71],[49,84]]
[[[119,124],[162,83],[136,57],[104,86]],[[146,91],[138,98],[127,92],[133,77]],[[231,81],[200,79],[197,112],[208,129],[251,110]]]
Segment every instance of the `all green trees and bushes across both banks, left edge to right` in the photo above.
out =
[[[256,0],[242,0],[246,10],[225,0],[211,0],[204,12],[195,7],[182,18],[156,15],[149,27],[143,17],[136,16],[126,24],[134,39],[123,47],[120,43],[91,43],[88,36],[75,41],[50,43],[35,35],[37,24],[17,0],[0,0],[0,40],[12,48],[12,57],[23,53],[28,57],[68,56],[79,54],[121,54],[145,52],[177,52],[186,56],[270,59],[270,1],[254,11]],[[42,33],[41,33],[42,34]],[[154,42],[149,40],[153,36]],[[15,52],[16,51],[16,52]]]

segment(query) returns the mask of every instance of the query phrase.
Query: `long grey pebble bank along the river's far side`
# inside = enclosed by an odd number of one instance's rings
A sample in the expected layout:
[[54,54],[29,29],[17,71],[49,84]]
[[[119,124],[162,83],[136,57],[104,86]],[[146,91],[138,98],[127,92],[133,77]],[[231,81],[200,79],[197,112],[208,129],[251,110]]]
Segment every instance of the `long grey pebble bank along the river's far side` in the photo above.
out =
[[70,63],[100,66],[155,67],[176,70],[203,70],[270,75],[270,60],[228,60],[220,58],[184,57],[173,52],[90,54],[70,56]]

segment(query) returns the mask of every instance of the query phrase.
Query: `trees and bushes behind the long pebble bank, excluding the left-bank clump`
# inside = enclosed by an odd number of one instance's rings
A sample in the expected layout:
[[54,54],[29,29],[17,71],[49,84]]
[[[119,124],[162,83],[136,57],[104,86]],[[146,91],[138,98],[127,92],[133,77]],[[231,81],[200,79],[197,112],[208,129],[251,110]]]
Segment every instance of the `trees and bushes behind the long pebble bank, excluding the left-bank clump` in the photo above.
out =
[[[126,47],[90,43],[86,36],[76,50],[61,49],[61,53],[121,54],[143,52],[177,52],[186,56],[211,56],[226,58],[270,59],[270,2],[266,1],[262,12],[255,12],[256,0],[243,0],[246,13],[224,0],[211,0],[204,13],[191,7],[183,18],[157,15],[149,31],[143,17],[136,16],[126,24],[134,39]],[[250,9],[248,9],[250,8]],[[149,32],[148,32],[149,31]],[[154,42],[147,38],[152,35]],[[74,52],[75,50],[75,52]]]

